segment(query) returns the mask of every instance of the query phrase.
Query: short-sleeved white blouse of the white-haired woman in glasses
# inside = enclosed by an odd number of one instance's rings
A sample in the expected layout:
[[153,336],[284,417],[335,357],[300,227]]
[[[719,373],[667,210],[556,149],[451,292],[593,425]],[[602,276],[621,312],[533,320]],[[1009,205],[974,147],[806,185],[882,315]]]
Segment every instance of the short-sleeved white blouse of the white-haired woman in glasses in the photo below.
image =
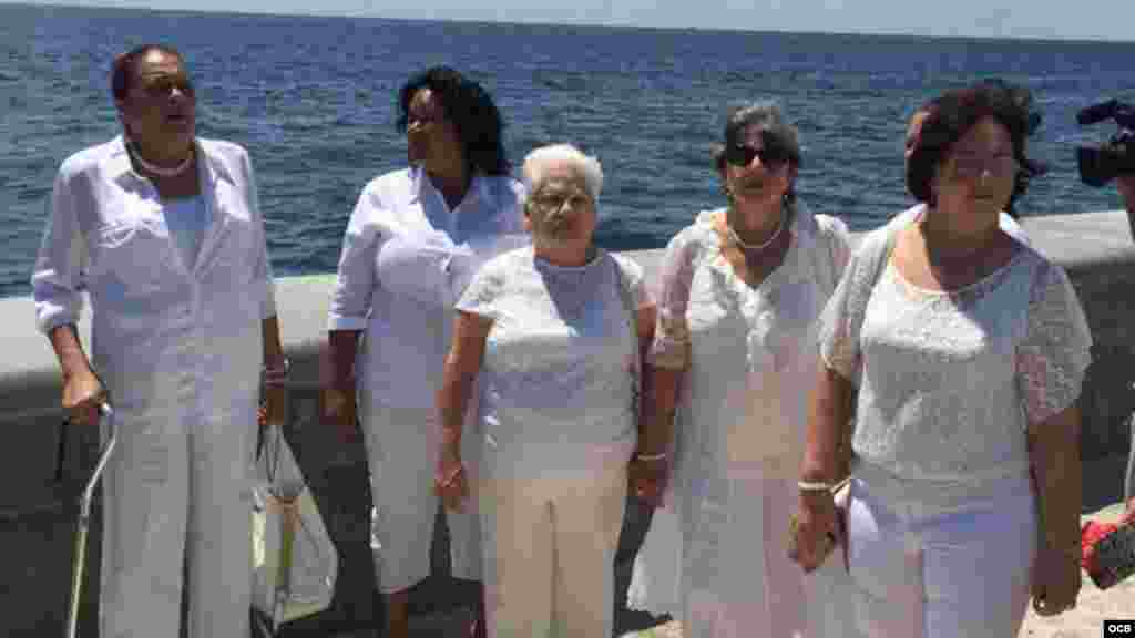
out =
[[[642,268],[599,251],[558,267],[531,247],[485,265],[457,309],[493,320],[481,368],[481,434],[494,476],[589,473],[625,463],[636,442],[631,364]],[[535,472],[535,473],[533,473]]]

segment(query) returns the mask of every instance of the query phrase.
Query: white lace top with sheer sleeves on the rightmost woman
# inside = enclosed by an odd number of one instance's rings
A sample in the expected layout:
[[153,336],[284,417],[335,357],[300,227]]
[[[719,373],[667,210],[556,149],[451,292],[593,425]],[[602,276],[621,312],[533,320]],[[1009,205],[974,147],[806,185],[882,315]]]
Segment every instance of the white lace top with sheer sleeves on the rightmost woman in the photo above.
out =
[[[894,230],[894,229],[892,229]],[[821,355],[859,381],[852,447],[873,489],[951,510],[1028,479],[1026,426],[1073,404],[1091,362],[1062,268],[1028,247],[983,279],[927,291],[864,238],[822,318]]]

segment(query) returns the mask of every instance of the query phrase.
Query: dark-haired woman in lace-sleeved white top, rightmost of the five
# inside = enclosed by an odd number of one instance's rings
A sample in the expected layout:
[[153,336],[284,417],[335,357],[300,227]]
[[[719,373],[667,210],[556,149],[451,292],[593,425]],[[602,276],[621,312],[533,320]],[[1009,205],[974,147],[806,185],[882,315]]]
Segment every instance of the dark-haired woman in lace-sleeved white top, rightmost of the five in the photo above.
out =
[[1065,271],[998,225],[1027,123],[1004,87],[944,94],[907,165],[927,207],[864,238],[824,312],[799,561],[840,535],[825,484],[854,413],[847,542],[871,636],[1016,636],[1029,596],[1044,615],[1076,603],[1091,335]]

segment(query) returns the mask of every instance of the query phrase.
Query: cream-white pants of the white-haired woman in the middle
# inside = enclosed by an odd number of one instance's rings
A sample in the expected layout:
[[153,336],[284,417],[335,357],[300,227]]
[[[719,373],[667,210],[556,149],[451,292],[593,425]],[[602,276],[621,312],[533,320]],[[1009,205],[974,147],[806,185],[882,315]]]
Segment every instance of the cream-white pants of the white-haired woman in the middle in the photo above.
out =
[[627,465],[577,477],[485,478],[485,607],[494,638],[607,638]]

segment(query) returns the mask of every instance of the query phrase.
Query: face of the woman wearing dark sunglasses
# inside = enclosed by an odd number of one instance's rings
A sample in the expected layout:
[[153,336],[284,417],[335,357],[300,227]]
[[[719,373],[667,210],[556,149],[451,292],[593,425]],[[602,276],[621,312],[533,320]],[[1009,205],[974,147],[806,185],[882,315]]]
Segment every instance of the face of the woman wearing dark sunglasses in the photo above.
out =
[[725,149],[722,179],[739,204],[780,204],[792,184],[794,169],[776,149],[765,149],[762,129],[750,125],[738,143]]

